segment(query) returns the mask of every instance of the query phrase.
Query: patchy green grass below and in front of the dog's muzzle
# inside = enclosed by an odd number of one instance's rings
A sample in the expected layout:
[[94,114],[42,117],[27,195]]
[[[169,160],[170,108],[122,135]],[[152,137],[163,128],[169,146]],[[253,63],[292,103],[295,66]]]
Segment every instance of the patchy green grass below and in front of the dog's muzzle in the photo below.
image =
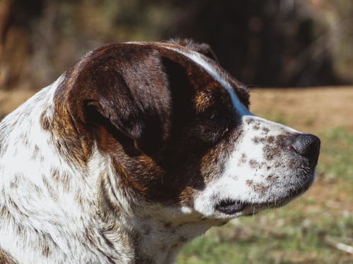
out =
[[284,208],[209,230],[186,245],[177,263],[353,263],[327,241],[353,246],[353,134],[335,127],[318,135],[317,186]]

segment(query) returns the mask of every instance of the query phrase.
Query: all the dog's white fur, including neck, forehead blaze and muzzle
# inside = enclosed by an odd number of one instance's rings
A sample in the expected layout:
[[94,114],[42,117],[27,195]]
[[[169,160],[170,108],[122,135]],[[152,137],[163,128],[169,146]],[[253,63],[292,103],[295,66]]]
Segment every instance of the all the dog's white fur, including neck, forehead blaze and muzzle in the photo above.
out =
[[[253,116],[227,82],[227,75],[201,54],[172,44],[161,46],[205,69],[227,90],[241,116],[242,134],[234,139],[234,146],[229,146],[232,151],[224,161],[222,175],[215,175],[198,192],[194,208],[162,206],[138,201],[133,191],[119,188],[124,183],[116,175],[111,158],[96,145],[87,165],[70,163],[57,149],[55,134],[40,125],[42,115],[50,119],[54,114],[54,94],[63,80],[60,77],[0,122],[0,212],[6,212],[0,218],[0,249],[18,263],[109,263],[109,258],[115,263],[173,263],[186,241],[223,220],[249,213],[249,208],[231,216],[219,213],[215,204],[220,200],[271,202],[301,184],[300,179],[290,177],[303,178],[304,172],[300,174],[285,166],[285,152],[273,161],[264,161],[263,144],[253,142],[254,137],[297,133],[295,130]],[[253,119],[252,124],[249,118]],[[254,122],[258,130],[253,129]],[[270,132],[263,134],[263,128]],[[239,164],[242,153],[247,154],[248,161],[264,162],[271,170],[254,170],[249,163]],[[273,168],[276,162],[283,165]],[[68,175],[69,187],[53,179],[53,170]],[[280,180],[262,194],[247,183],[252,180],[267,186],[264,177],[272,174]],[[119,214],[102,215],[102,193],[119,206]],[[131,233],[139,234],[138,246]],[[42,252],[43,246],[47,246],[47,256]],[[140,259],[136,260],[136,254]]]

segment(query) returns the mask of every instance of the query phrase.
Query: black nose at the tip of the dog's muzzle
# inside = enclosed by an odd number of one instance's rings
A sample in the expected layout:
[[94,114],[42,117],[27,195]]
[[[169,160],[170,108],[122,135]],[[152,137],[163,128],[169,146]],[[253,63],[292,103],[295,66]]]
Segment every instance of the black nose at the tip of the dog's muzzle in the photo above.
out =
[[320,139],[313,134],[298,134],[292,143],[292,148],[309,160],[311,167],[318,163]]

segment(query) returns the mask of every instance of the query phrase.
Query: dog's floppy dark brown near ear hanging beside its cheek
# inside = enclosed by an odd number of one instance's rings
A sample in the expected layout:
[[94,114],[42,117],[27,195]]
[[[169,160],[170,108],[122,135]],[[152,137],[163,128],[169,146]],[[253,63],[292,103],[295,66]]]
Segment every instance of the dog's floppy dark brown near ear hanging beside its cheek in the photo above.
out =
[[107,46],[76,65],[69,106],[85,124],[97,115],[133,139],[143,153],[160,151],[169,138],[172,97],[158,51]]

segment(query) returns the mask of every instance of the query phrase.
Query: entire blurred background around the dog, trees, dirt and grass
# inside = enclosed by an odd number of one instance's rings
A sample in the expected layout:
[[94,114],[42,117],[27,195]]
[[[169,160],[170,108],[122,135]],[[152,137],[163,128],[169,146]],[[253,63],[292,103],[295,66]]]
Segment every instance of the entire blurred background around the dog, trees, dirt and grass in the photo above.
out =
[[213,228],[177,263],[353,263],[353,1],[0,0],[0,119],[97,46],[170,37],[210,44],[266,87],[253,113],[322,140],[308,193]]

